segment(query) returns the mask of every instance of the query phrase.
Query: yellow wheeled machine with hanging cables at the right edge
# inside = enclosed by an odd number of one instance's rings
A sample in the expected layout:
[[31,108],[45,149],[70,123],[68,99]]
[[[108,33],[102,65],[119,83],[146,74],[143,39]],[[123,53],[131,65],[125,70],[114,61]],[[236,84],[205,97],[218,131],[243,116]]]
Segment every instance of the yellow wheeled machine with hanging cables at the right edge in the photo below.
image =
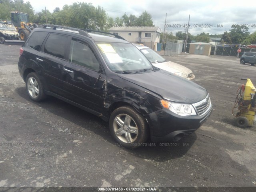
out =
[[[241,80],[247,80],[247,82],[236,92],[237,96],[232,114],[236,117],[236,126],[245,128],[256,124],[256,89],[250,79]],[[235,108],[239,110],[236,115],[234,114]]]

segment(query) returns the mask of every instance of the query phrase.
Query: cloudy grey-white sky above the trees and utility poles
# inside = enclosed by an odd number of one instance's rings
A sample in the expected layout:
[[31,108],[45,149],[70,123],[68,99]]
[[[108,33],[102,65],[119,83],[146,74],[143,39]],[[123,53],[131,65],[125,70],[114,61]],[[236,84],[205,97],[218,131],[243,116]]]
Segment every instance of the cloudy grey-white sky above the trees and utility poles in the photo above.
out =
[[[26,2],[26,0],[24,0]],[[192,35],[206,32],[210,34],[223,34],[229,31],[232,24],[246,24],[249,32],[256,31],[256,6],[253,0],[29,0],[35,12],[46,9],[53,12],[54,8],[62,9],[64,4],[73,2],[91,2],[93,6],[102,7],[108,16],[121,17],[124,13],[139,16],[145,10],[152,15],[155,26],[164,31],[165,16],[166,30],[175,34],[185,32],[180,25],[188,24]],[[174,25],[173,27],[170,25]],[[176,26],[175,26],[176,25]],[[201,25],[201,28],[196,27]],[[208,25],[208,26],[207,26]],[[222,27],[222,26],[223,27]],[[252,26],[249,26],[252,25]],[[254,25],[254,26],[253,26]],[[203,27],[202,27],[203,26]],[[209,27],[210,26],[210,27]],[[217,27],[220,26],[220,27]],[[209,28],[207,28],[209,27]]]

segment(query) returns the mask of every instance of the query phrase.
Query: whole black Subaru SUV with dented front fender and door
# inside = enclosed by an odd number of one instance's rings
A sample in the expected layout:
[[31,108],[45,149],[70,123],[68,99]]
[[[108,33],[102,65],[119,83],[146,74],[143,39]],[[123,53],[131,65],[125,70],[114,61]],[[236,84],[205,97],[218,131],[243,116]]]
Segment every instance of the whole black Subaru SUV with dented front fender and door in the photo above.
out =
[[178,141],[212,112],[204,88],[152,66],[115,34],[36,28],[20,48],[18,68],[32,100],[54,96],[109,121],[113,138],[126,148],[149,137]]

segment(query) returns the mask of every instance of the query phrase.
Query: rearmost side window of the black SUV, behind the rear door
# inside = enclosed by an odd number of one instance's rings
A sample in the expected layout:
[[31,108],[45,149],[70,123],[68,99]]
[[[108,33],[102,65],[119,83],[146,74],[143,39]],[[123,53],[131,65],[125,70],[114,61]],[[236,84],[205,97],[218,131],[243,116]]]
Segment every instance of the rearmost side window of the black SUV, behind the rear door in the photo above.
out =
[[28,46],[39,51],[44,39],[46,38],[48,32],[34,32],[28,40]]

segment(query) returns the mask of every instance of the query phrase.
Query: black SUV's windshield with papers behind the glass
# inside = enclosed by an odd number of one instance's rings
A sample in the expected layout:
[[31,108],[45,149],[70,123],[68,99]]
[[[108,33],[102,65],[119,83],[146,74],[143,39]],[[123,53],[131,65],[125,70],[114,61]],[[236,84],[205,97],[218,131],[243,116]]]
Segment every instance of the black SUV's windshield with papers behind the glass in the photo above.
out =
[[132,44],[114,43],[114,42],[98,42],[98,48],[109,68],[115,72],[135,73],[152,72],[153,66],[145,56]]

